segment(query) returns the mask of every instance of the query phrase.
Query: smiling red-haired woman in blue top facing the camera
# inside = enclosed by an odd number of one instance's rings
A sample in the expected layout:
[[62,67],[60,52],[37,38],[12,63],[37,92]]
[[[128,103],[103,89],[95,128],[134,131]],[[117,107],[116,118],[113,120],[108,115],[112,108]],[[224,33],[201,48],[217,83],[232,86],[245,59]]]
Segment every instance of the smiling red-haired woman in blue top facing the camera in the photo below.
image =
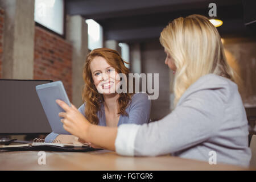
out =
[[[80,119],[77,120],[83,120],[81,118],[85,117],[93,125],[107,127],[117,127],[123,123],[142,125],[149,122],[151,102],[146,93],[116,92],[121,82],[118,75],[122,73],[128,77],[130,73],[125,63],[117,51],[109,48],[94,49],[88,54],[83,71],[84,104],[79,109],[75,106],[68,108],[79,116]],[[128,81],[126,88],[129,88]],[[49,134],[46,142],[54,139],[60,140],[61,143],[77,144],[73,135],[56,133]]]

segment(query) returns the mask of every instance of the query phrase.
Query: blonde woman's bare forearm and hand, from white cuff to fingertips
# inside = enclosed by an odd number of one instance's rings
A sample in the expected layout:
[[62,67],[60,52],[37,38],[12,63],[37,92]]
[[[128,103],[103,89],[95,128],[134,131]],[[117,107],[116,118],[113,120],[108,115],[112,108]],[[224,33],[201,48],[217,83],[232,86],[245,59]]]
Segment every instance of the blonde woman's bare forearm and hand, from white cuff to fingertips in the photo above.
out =
[[108,150],[115,150],[117,127],[93,125],[73,104],[69,107],[63,101],[56,100],[56,102],[65,110],[65,112],[59,113],[59,116],[63,117],[61,122],[63,122],[65,130],[86,142]]

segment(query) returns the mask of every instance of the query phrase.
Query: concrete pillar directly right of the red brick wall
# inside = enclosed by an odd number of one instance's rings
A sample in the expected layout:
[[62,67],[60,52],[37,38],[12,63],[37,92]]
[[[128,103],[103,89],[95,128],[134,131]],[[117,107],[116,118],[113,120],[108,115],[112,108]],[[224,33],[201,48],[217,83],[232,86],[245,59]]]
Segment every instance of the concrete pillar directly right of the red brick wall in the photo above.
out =
[[66,38],[72,43],[72,103],[82,104],[82,70],[88,54],[88,26],[80,15],[67,16]]

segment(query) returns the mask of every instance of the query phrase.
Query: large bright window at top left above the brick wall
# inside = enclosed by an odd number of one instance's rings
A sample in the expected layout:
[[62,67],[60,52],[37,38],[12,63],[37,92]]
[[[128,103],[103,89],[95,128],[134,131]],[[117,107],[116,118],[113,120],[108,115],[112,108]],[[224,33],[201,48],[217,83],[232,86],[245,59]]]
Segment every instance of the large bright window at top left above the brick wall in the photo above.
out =
[[34,20],[64,36],[64,0],[35,0]]

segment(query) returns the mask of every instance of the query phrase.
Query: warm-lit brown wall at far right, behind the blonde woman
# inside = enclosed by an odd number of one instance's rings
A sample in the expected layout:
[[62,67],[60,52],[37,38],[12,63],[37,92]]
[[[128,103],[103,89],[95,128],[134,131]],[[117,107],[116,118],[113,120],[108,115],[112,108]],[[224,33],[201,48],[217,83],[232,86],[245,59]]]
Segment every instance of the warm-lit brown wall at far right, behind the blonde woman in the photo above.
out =
[[[256,39],[224,39],[226,58],[243,81],[241,96],[245,107],[256,108]],[[255,113],[256,114],[256,113]]]

